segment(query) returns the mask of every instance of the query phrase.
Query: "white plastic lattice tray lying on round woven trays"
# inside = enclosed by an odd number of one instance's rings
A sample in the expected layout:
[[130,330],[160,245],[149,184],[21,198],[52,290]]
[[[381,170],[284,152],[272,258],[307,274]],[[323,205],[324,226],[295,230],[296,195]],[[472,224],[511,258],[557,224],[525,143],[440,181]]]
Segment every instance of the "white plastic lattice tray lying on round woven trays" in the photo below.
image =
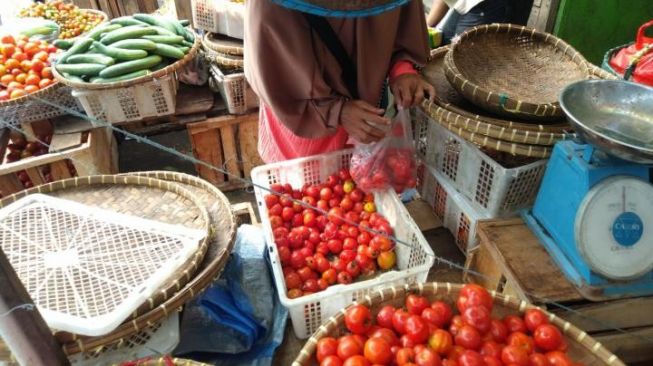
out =
[[206,231],[41,194],[0,209],[0,245],[51,328],[103,335],[198,250]]

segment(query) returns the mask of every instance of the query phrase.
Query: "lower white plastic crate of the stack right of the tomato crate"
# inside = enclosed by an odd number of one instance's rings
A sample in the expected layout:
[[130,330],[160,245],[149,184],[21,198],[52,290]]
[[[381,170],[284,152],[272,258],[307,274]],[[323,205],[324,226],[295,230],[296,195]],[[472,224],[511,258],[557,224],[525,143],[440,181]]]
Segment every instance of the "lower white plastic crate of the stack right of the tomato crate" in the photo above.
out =
[[433,168],[422,164],[420,172],[419,192],[422,198],[433,208],[454,237],[458,248],[467,256],[476,247],[476,224],[478,220],[490,218],[489,215],[475,210],[469,201]]

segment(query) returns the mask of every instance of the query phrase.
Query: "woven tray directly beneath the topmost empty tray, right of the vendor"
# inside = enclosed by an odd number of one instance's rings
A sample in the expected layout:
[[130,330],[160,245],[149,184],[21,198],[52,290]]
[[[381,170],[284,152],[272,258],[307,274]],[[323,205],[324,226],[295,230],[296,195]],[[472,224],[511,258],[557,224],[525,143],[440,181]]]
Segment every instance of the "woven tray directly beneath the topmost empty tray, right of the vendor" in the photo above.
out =
[[559,123],[537,124],[532,121],[518,119],[502,119],[476,105],[470,103],[451,85],[444,72],[444,56],[449,51],[449,46],[439,47],[431,51],[428,64],[422,70],[424,79],[435,88],[434,103],[451,112],[469,118],[470,120],[490,123],[503,128],[515,128],[523,131],[536,131],[548,133],[564,133],[570,129],[569,123],[561,119]]

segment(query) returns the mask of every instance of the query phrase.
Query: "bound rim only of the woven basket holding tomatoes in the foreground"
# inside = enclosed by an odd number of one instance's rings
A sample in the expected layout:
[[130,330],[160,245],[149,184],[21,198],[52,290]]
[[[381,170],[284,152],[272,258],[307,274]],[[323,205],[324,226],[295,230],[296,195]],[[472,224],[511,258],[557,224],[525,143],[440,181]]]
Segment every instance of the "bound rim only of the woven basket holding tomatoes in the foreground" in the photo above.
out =
[[[380,290],[373,291],[372,293],[365,295],[362,300],[354,302],[354,304],[363,304],[366,306],[373,306],[377,303],[383,301],[398,299],[405,297],[408,294],[444,294],[451,295],[460,292],[463,284],[454,284],[450,282],[428,282],[428,283],[419,283],[412,285],[398,285],[393,287],[385,287]],[[516,310],[520,314],[525,312],[528,309],[539,309],[543,311],[549,321],[556,325],[563,334],[569,337],[575,343],[579,343],[587,352],[590,352],[601,361],[605,362],[606,365],[612,366],[625,366],[626,364],[621,361],[616,355],[610,352],[605,346],[597,342],[594,338],[588,335],[586,332],[580,330],[575,325],[565,321],[559,316],[548,312],[545,309],[539,308],[533,304],[527,303],[526,301],[519,300],[515,297],[509,295],[499,294],[496,291],[490,291],[490,295],[494,299],[495,304],[499,303],[502,306]],[[342,309],[336,315],[330,317],[318,328],[318,330],[311,335],[311,337],[306,341],[304,347],[299,351],[297,358],[293,361],[292,366],[306,366],[311,365],[313,353],[317,347],[317,342],[321,338],[328,336],[329,333],[335,330],[340,324],[344,322],[345,311],[347,308]]]

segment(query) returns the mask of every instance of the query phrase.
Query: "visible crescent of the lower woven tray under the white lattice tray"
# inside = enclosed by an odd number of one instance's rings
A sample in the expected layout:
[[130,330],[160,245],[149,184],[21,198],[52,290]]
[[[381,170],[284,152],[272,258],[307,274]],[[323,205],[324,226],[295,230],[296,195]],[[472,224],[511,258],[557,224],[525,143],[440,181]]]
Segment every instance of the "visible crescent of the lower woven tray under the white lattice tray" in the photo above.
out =
[[163,303],[122,324],[103,337],[76,336],[63,345],[64,352],[68,355],[96,351],[98,347],[121,342],[124,338],[128,338],[148,325],[164,319],[173,311],[180,311],[185,303],[204,291],[222,273],[233,248],[237,228],[236,220],[229,200],[215,186],[197,177],[176,172],[134,172],[126,176],[173,182],[192,190],[203,202],[210,217],[212,236],[207,252],[195,276],[181,290],[168,292]]

